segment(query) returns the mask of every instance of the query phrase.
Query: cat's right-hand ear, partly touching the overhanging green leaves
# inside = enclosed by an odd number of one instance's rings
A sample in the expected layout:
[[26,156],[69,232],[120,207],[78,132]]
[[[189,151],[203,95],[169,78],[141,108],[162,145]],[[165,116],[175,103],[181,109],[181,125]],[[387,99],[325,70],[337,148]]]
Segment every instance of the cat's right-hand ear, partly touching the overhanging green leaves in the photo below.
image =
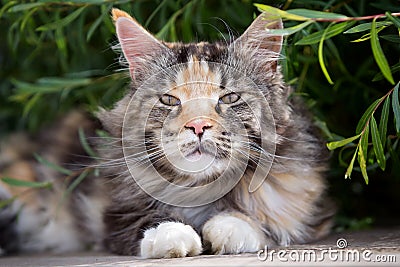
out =
[[282,28],[280,18],[262,13],[232,45],[255,50],[254,55],[258,60],[266,60],[266,67],[275,71],[281,54],[283,37],[268,30]]

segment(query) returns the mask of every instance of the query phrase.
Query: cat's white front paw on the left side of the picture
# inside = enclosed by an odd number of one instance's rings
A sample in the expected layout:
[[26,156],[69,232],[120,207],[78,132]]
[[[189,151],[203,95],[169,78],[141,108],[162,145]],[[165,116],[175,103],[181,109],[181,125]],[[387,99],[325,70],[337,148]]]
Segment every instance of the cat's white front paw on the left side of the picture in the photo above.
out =
[[201,239],[189,225],[165,222],[144,232],[140,243],[142,258],[179,258],[202,252]]

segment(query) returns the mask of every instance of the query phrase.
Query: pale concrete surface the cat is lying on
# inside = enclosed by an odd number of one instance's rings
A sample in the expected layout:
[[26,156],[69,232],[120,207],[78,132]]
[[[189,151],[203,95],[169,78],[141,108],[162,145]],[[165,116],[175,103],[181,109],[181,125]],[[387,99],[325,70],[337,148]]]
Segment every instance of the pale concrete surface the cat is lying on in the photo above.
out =
[[[268,255],[268,257],[266,257]],[[268,248],[257,254],[150,259],[105,253],[23,255],[0,266],[400,266],[400,228],[331,234],[312,244]]]

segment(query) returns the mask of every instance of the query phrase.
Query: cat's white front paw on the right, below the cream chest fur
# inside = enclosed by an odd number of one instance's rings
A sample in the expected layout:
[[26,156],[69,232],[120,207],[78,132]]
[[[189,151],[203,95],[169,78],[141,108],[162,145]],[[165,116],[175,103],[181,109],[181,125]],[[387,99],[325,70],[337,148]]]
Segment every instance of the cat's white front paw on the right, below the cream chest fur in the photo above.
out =
[[217,215],[203,227],[203,239],[215,254],[256,252],[265,245],[265,234],[248,222],[231,215]]

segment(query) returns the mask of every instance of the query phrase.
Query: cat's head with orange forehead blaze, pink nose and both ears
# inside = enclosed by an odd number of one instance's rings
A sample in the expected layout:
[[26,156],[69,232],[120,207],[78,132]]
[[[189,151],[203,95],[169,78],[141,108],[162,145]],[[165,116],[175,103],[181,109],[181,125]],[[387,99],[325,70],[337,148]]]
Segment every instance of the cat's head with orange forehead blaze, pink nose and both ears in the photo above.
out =
[[101,119],[122,136],[128,165],[150,160],[168,179],[193,182],[273,155],[289,112],[282,36],[266,30],[279,19],[260,15],[230,42],[182,44],[157,40],[123,11],[113,18],[132,89]]

